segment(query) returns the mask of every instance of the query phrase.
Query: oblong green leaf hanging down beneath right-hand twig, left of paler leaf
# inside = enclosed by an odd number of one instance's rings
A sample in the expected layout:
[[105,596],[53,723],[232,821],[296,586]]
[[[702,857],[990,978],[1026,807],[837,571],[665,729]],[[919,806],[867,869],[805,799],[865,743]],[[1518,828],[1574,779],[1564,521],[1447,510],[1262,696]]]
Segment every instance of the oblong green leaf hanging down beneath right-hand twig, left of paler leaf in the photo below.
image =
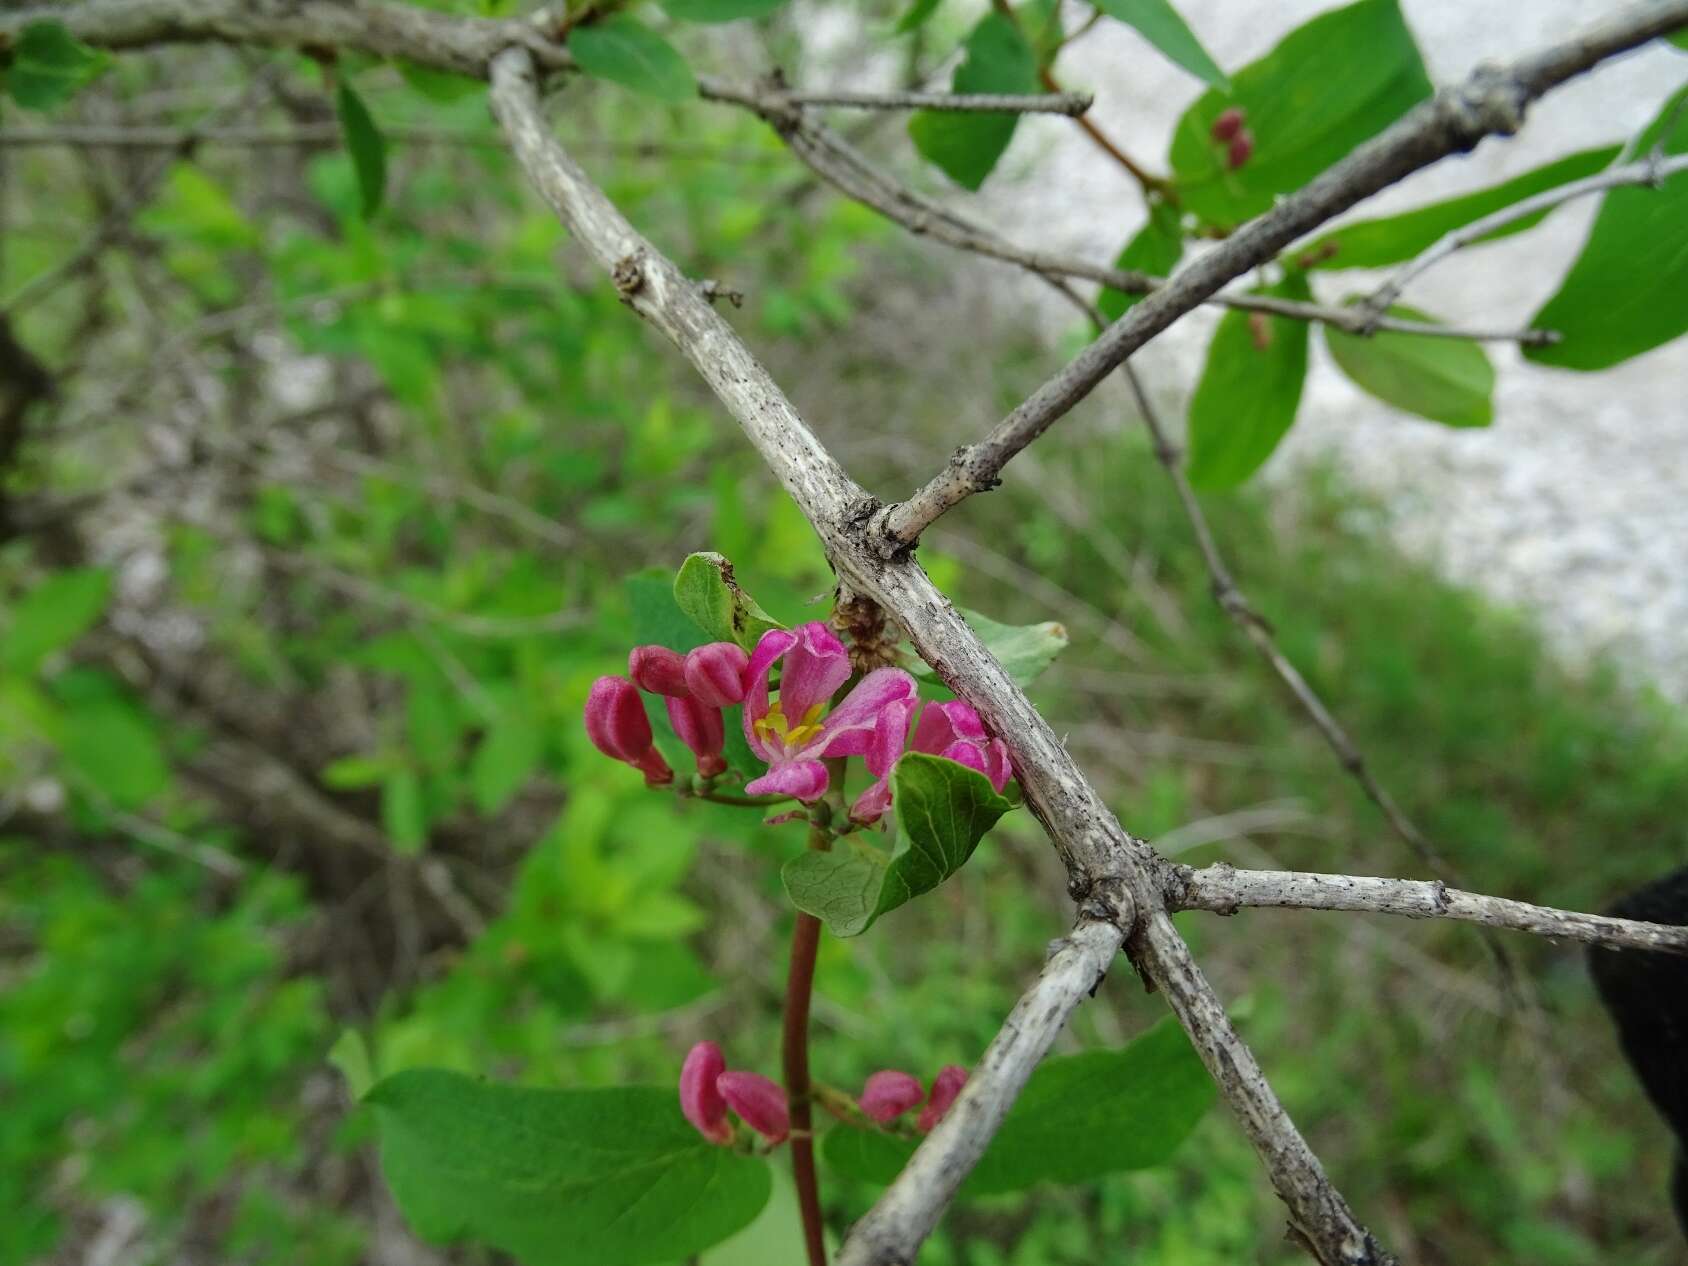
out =
[[[1308,299],[1300,275],[1256,290]],[[1295,422],[1307,378],[1307,322],[1227,311],[1190,398],[1190,483],[1234,488],[1259,469]]]

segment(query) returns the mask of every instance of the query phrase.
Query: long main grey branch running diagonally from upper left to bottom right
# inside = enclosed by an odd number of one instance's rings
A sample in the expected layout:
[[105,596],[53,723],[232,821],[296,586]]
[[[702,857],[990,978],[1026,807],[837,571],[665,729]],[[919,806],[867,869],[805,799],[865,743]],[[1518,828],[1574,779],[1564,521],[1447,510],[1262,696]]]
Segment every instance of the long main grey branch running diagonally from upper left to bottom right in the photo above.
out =
[[[1004,736],[1026,805],[1060,852],[1069,891],[1080,900],[1080,910],[1102,903],[1121,912],[1124,896],[1131,898],[1141,920],[1138,960],[1190,1030],[1298,1234],[1328,1266],[1391,1263],[1330,1187],[1165,915],[1165,863],[1119,825],[1055,731],[927,574],[913,560],[879,557],[866,530],[876,503],[820,446],[697,287],[633,230],[549,135],[533,74],[520,49],[501,54],[493,66],[493,110],[528,179],[611,272],[628,306],[675,343],[738,419],[820,535],[841,587],[885,608],[944,682],[979,711],[993,733]],[[1116,920],[1117,915],[1109,922]]]

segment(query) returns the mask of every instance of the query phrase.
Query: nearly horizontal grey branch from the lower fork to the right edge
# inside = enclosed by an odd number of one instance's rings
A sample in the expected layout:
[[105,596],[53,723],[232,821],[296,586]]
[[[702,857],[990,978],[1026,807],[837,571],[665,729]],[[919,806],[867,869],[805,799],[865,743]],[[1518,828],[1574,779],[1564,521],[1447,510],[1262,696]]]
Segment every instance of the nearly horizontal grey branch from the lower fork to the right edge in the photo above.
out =
[[1583,915],[1504,896],[1448,888],[1438,879],[1376,879],[1362,874],[1312,871],[1239,871],[1219,863],[1205,869],[1180,866],[1171,879],[1173,910],[1234,915],[1244,906],[1354,910],[1406,918],[1455,918],[1462,923],[1533,932],[1555,940],[1583,940],[1615,949],[1688,954],[1688,927],[1642,923],[1634,918]]

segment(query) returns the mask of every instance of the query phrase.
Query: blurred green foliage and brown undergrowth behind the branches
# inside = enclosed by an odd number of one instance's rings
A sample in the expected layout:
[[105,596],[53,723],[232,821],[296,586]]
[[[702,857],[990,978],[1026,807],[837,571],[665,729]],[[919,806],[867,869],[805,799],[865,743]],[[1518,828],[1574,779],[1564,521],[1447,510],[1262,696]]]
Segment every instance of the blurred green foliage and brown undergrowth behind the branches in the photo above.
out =
[[[692,51],[803,81],[795,20]],[[294,56],[125,56],[52,122],[179,145],[0,149],[10,380],[46,380],[0,446],[0,1263],[486,1259],[398,1222],[329,1063],[346,1028],[378,1074],[670,1082],[706,1036],[775,1070],[778,863],[802,829],[647,793],[579,712],[625,655],[628,572],[721,550],[798,619],[825,609],[825,562],[689,368],[569,252],[483,91],[341,73],[393,138],[373,219],[333,133],[219,140],[333,123]],[[755,120],[589,83],[555,108],[650,236],[743,290],[733,321],[869,486],[906,486],[1053,363],[991,273],[839,203]],[[1403,562],[1328,471],[1207,508],[1474,886],[1599,908],[1680,863],[1678,714]],[[974,609],[1065,623],[1038,701],[1133,830],[1190,863],[1413,873],[1210,601],[1121,397],[922,557]],[[817,1075],[971,1063],[1065,910],[1021,815],[932,900],[827,939]],[[1514,944],[1534,1026],[1463,928],[1182,922],[1406,1261],[1676,1259],[1663,1126],[1572,947]],[[1121,966],[1063,1048],[1160,1014]],[[824,1190],[836,1225],[873,1198]],[[706,1259],[787,1261],[775,1242]],[[1298,1252],[1214,1112],[1170,1168],[955,1209],[928,1259]]]

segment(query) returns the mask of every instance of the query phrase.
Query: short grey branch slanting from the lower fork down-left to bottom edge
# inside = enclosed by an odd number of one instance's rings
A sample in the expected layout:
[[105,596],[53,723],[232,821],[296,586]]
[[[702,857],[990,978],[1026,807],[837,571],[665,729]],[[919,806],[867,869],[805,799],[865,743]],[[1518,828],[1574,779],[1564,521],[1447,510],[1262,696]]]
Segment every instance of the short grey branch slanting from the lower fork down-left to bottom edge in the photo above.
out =
[[1031,1070],[1079,1003],[1102,982],[1123,939],[1111,922],[1080,920],[1065,940],[1055,942],[1043,974],[1014,1003],[954,1107],[851,1229],[836,1266],[900,1266],[915,1259]]

